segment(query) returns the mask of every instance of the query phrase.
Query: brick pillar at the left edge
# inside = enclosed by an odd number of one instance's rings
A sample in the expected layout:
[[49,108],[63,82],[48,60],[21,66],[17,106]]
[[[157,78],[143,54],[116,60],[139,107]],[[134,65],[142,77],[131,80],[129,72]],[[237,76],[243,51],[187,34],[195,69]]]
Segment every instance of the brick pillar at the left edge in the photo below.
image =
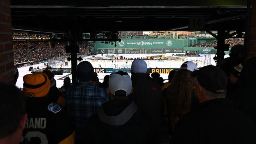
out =
[[10,0],[0,0],[0,81],[14,82]]

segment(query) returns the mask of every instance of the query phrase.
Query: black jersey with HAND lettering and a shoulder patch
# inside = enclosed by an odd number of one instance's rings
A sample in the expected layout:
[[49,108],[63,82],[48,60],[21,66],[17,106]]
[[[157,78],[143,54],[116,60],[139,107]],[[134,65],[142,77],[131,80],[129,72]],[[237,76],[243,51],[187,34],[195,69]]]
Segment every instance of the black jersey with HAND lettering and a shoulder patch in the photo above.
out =
[[74,144],[74,128],[66,110],[47,97],[27,98],[22,142],[29,144]]

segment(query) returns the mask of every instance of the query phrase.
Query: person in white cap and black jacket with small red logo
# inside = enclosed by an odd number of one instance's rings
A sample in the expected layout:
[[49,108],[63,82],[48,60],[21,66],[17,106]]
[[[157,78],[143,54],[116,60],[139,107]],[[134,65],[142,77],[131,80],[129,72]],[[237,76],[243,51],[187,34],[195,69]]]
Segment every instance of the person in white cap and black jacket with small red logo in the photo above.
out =
[[160,143],[164,104],[160,86],[147,78],[147,64],[144,60],[134,60],[131,66],[133,100],[138,108],[148,114],[154,122],[157,142]]

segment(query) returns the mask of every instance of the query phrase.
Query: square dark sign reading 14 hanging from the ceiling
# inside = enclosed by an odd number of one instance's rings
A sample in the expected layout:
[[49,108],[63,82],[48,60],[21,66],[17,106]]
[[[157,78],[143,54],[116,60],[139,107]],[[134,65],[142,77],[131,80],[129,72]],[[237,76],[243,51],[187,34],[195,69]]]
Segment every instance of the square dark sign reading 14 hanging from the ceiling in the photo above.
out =
[[189,30],[204,30],[204,17],[191,16],[189,17]]

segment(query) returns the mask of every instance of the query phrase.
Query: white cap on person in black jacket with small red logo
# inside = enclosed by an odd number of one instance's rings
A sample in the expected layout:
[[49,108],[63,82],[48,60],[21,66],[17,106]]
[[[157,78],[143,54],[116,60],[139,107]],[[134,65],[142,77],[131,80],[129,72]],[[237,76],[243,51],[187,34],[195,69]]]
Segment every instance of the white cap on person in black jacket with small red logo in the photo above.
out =
[[131,69],[134,73],[146,73],[148,66],[144,60],[134,60]]

